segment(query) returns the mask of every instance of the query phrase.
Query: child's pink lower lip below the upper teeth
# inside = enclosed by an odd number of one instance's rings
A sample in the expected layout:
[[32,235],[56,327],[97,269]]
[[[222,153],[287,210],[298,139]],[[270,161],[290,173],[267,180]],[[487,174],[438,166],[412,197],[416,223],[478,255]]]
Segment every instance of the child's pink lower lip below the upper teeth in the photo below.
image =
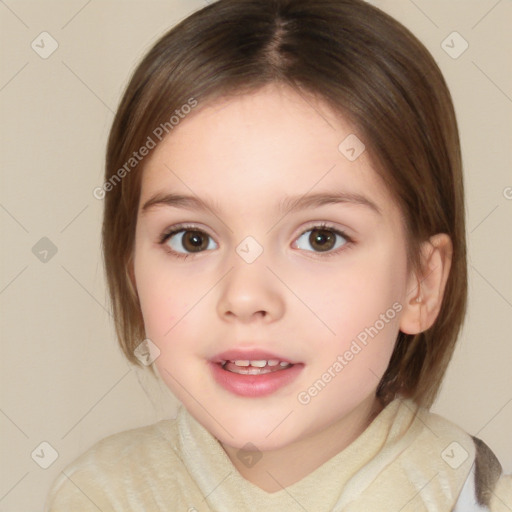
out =
[[303,364],[294,364],[286,370],[277,372],[241,375],[224,370],[219,363],[210,362],[210,366],[213,378],[218,384],[235,395],[246,397],[271,395],[295,380],[304,367]]

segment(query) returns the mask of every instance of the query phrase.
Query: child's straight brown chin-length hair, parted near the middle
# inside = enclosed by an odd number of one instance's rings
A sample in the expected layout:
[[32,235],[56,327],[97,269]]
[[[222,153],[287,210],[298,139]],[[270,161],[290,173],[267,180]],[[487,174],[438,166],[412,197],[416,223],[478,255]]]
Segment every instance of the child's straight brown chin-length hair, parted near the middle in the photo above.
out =
[[[393,18],[362,0],[220,0],[195,12],[165,34],[135,70],[111,129],[106,182],[191,98],[201,105],[273,82],[313,94],[357,127],[401,207],[416,268],[422,241],[436,233],[452,240],[436,322],[418,335],[399,333],[377,392],[384,403],[400,395],[430,406],[466,309],[462,165],[442,74],[426,48]],[[110,187],[103,221],[116,331],[134,363],[134,349],[145,337],[128,275],[142,168]]]

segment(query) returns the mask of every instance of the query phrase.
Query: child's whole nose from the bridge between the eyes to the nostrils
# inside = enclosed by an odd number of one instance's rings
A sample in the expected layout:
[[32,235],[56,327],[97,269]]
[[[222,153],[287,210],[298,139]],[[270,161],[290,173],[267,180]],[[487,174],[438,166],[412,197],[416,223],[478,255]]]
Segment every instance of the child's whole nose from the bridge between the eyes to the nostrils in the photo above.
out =
[[223,279],[218,314],[224,319],[248,322],[255,317],[278,319],[284,311],[283,290],[268,270],[267,255],[252,237],[244,239],[231,255],[231,271]]

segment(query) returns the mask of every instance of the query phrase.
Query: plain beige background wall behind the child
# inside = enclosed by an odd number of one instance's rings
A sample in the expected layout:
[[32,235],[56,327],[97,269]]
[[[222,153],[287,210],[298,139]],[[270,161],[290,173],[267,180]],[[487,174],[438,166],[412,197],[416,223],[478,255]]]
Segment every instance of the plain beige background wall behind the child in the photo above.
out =
[[[431,50],[462,136],[470,306],[434,410],[482,438],[510,472],[512,2],[373,3]],[[172,398],[117,348],[99,251],[102,202],[92,191],[129,73],[157,37],[204,5],[0,1],[0,511],[42,510],[50,483],[92,443],[174,412]],[[31,48],[34,39],[42,46],[43,31],[59,45],[47,59]],[[456,59],[441,46],[453,31],[469,43]],[[445,43],[452,54],[462,48],[455,37]],[[32,249],[43,237],[57,249],[46,262]],[[43,441],[59,454],[48,469],[38,465],[51,462]]]

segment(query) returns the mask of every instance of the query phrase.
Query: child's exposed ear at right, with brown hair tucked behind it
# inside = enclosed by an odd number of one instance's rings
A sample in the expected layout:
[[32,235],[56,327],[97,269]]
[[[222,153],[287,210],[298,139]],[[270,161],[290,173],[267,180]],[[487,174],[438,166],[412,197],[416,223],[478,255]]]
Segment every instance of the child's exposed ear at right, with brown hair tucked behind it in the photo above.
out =
[[445,233],[421,244],[421,268],[412,272],[409,294],[400,317],[400,330],[418,334],[430,328],[439,314],[452,262],[452,241]]

